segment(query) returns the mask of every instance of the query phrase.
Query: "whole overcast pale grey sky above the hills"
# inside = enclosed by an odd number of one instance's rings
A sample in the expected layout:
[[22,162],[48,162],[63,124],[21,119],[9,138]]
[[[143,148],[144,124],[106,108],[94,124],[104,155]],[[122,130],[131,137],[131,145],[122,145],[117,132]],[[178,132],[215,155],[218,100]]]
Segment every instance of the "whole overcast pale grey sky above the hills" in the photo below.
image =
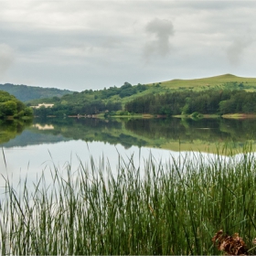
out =
[[0,0],[0,83],[256,77],[256,1]]

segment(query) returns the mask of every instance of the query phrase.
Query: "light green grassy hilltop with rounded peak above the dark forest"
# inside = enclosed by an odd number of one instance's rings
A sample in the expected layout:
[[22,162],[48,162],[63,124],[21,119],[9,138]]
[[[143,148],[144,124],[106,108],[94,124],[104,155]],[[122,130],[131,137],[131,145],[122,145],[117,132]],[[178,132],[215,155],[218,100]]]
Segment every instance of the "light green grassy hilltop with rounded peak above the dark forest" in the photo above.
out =
[[202,91],[207,89],[243,89],[245,91],[256,91],[256,78],[242,78],[231,74],[215,76],[210,78],[194,79],[194,80],[167,80],[162,82],[151,83],[149,85],[170,90],[193,90]]

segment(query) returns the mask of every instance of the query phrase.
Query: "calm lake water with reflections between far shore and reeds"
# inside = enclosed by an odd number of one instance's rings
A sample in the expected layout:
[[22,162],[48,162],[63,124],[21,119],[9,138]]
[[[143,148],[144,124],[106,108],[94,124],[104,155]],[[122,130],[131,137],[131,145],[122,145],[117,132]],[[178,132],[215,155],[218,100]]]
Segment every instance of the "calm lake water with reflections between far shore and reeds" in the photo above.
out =
[[[253,119],[48,118],[33,123],[8,121],[0,127],[0,174],[9,176],[15,184],[26,176],[33,182],[42,172],[50,180],[50,170],[55,166],[61,172],[67,165],[74,172],[80,163],[90,167],[91,157],[96,166],[103,158],[114,170],[120,155],[124,162],[133,157],[135,165],[141,165],[149,155],[156,161],[168,161],[170,156],[177,159],[193,151],[202,152],[207,159],[224,144],[234,153],[241,152],[248,142],[256,147]],[[0,186],[3,184],[4,179]]]

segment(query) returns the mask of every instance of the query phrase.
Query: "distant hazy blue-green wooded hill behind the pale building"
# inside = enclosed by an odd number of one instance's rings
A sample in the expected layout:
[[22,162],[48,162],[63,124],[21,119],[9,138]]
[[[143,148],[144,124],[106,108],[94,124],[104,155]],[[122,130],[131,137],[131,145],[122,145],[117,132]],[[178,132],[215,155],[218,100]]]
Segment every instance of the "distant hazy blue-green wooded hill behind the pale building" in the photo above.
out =
[[36,86],[16,85],[12,83],[0,84],[1,91],[7,91],[16,96],[19,101],[31,101],[35,99],[45,99],[52,97],[61,97],[63,95],[72,93],[69,90],[60,90],[57,88],[42,88]]

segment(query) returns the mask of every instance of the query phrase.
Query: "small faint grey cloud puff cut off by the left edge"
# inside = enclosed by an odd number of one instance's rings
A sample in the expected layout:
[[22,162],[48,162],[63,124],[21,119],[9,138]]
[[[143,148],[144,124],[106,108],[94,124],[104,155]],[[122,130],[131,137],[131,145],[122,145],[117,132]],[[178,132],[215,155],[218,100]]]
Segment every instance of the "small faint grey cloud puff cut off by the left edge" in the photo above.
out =
[[5,74],[5,71],[10,68],[15,59],[13,48],[6,44],[0,44],[0,76]]

